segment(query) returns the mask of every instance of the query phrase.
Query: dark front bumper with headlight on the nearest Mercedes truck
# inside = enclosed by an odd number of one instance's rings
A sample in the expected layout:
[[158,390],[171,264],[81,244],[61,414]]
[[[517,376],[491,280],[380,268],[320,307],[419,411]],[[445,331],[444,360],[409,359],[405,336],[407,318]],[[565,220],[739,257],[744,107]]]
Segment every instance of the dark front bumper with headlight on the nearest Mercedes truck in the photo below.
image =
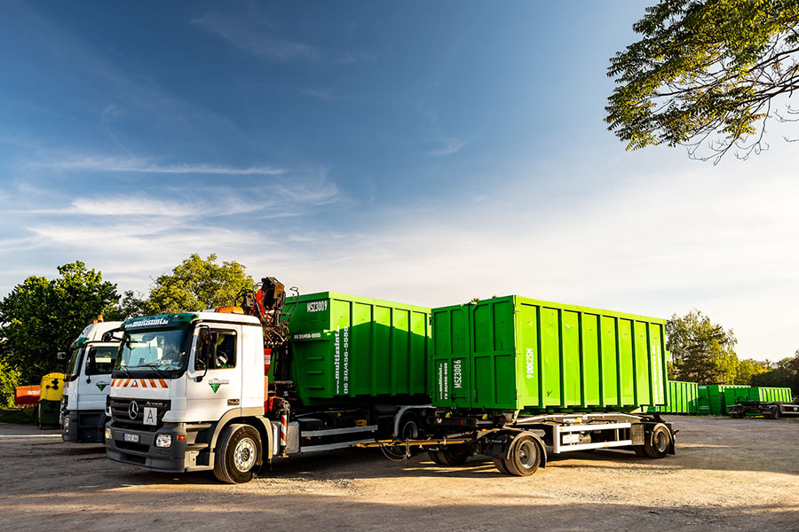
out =
[[[106,426],[111,430],[111,437],[106,440],[106,456],[115,462],[164,473],[213,469],[213,465],[198,465],[199,452],[186,449],[185,423],[166,423],[156,431],[115,426],[114,421]],[[170,447],[155,446],[159,434],[171,435]]]

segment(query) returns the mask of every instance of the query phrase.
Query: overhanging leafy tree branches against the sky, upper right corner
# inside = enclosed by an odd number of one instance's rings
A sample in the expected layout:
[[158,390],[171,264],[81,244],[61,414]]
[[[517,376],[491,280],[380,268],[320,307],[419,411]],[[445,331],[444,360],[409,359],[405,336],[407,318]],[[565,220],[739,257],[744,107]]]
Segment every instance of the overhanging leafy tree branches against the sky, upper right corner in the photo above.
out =
[[774,98],[799,89],[799,0],[661,0],[633,29],[643,36],[610,59],[619,85],[605,107],[627,149],[687,145],[717,162],[735,146],[747,158],[769,117],[796,113]]

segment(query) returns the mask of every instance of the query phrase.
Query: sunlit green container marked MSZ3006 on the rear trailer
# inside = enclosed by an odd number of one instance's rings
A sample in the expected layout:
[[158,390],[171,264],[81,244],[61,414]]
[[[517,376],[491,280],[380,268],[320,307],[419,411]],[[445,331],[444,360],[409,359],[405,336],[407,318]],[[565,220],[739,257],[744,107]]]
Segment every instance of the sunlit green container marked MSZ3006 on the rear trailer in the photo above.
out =
[[663,405],[665,323],[518,295],[433,309],[430,395],[526,413]]

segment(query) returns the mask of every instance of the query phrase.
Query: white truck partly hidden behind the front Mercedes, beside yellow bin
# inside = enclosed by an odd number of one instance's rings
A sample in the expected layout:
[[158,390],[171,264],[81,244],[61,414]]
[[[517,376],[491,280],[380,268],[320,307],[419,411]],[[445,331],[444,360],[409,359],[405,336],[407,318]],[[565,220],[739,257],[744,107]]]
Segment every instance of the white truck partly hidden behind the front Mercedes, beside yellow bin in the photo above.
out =
[[[103,442],[111,370],[119,348],[119,340],[113,338],[113,332],[122,324],[97,321],[84,328],[70,346],[61,399],[60,424],[64,442]],[[66,355],[59,353],[59,357],[66,358]]]

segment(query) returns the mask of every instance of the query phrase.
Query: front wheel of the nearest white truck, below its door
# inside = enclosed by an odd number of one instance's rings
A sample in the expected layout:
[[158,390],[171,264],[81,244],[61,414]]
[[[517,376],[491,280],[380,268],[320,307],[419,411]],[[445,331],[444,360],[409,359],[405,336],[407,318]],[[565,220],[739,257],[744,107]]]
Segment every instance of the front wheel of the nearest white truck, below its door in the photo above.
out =
[[261,462],[261,436],[249,425],[231,425],[222,431],[214,451],[214,475],[228,484],[249,482]]

